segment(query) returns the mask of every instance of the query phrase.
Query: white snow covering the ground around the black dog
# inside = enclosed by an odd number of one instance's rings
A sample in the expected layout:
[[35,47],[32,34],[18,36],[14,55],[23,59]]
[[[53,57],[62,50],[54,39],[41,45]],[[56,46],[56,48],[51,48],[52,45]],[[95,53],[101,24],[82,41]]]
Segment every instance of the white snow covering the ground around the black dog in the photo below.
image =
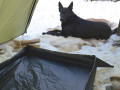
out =
[[[41,42],[38,44],[41,48],[62,51],[62,49],[58,48],[57,41],[60,43],[61,40],[65,40],[65,38],[41,35],[42,32],[46,32],[48,28],[54,28],[61,25],[58,12],[59,1],[65,7],[71,2],[71,0],[39,0],[27,30],[27,34],[18,37],[17,40],[40,38]],[[118,25],[120,19],[120,2],[85,2],[82,0],[74,0],[73,3],[73,11],[81,18],[103,18]],[[117,25],[115,27],[117,27]],[[75,43],[72,43],[72,45],[78,45],[80,42],[83,42],[83,40],[80,41],[80,39],[78,40],[72,37],[68,38],[69,40],[72,39],[72,42],[76,41]],[[64,40],[63,42],[65,43]],[[69,43],[69,40],[66,41]],[[110,76],[120,74],[120,47],[112,45],[115,40],[120,40],[120,37],[112,35],[106,43],[103,43],[102,41],[97,42],[98,46],[96,47],[93,47],[89,42],[86,42],[87,45],[80,48],[78,47],[79,45],[77,47],[73,46],[75,47],[75,50],[68,52],[73,54],[92,54],[115,66],[114,68],[102,68],[97,70],[94,90],[105,90],[105,86],[111,84],[109,80]],[[52,43],[54,45],[52,45]]]

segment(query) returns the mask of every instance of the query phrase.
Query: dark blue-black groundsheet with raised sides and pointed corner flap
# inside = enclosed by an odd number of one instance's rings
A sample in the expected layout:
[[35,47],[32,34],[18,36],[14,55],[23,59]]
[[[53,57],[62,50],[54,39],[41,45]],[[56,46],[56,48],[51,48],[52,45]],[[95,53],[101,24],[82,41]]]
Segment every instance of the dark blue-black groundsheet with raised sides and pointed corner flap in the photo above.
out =
[[91,90],[97,66],[112,67],[95,56],[27,46],[0,64],[0,90]]

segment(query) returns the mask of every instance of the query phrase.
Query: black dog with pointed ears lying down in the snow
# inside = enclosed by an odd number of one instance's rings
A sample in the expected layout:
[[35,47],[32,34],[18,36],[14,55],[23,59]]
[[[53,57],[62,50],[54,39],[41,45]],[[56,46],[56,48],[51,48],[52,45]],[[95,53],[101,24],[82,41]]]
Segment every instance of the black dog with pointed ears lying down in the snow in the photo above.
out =
[[104,22],[87,21],[78,17],[73,11],[73,2],[66,8],[59,2],[60,21],[62,31],[50,31],[43,34],[51,34],[56,36],[73,36],[84,39],[108,39],[117,29],[111,30],[109,25]]

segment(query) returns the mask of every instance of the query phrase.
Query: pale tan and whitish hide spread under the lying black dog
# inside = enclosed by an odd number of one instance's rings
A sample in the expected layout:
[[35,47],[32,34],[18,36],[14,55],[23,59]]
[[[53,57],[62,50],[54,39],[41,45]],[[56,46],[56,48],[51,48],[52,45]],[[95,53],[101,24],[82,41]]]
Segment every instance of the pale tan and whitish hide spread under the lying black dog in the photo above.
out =
[[[105,19],[87,19],[87,20],[91,20],[91,21],[104,21],[106,23],[108,23],[108,25],[110,25],[111,28],[116,28],[117,24],[110,22],[108,20]],[[98,47],[99,46],[99,42],[102,43],[106,43],[107,40],[96,40],[96,39],[82,39],[82,38],[76,38],[76,37],[68,37],[68,38],[64,38],[62,36],[54,36],[54,35],[49,35],[50,32],[57,32],[58,30],[61,29],[61,26],[57,26],[55,28],[48,28],[47,29],[47,34],[43,35],[41,40],[42,42],[46,43],[50,43],[52,46],[58,48],[58,50],[60,51],[64,51],[64,52],[73,52],[73,51],[78,51],[82,48],[82,46],[88,45],[88,46],[92,46],[92,47]],[[53,33],[54,34],[54,33]],[[58,33],[59,34],[59,33]],[[74,42],[71,42],[74,41]]]

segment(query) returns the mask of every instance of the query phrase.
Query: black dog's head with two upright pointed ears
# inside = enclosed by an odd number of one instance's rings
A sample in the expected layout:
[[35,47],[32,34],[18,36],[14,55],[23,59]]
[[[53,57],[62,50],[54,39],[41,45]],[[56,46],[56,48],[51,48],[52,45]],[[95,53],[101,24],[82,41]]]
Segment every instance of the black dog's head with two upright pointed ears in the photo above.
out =
[[63,7],[59,2],[59,12],[60,12],[60,21],[66,22],[73,14],[73,2],[70,3],[68,7]]

